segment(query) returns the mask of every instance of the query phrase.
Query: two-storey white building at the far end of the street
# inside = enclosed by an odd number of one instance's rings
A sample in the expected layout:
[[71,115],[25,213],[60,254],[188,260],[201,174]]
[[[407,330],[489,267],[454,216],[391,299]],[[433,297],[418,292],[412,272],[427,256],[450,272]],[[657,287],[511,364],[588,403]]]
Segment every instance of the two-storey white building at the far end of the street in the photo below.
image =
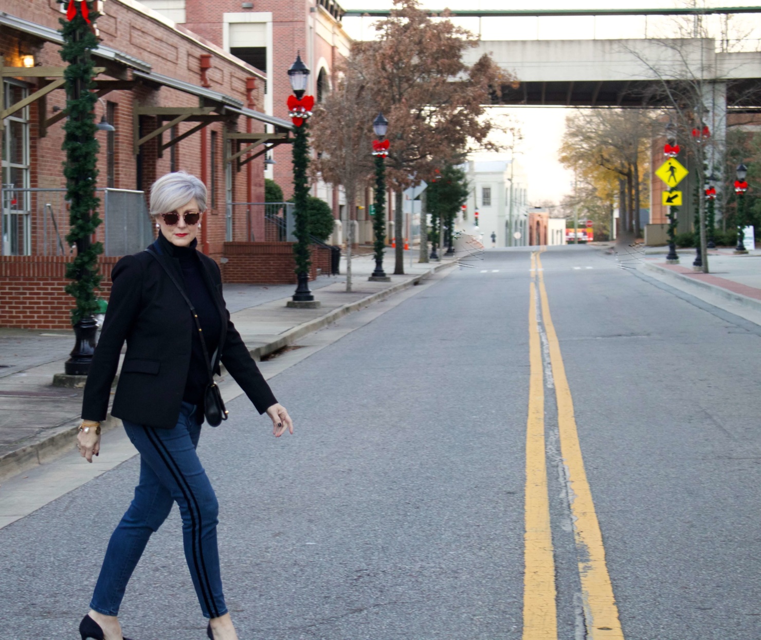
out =
[[491,246],[492,233],[497,236],[498,247],[527,245],[528,187],[523,167],[507,158],[468,160],[464,168],[470,196],[463,212],[466,220],[462,216],[458,218],[458,226],[471,230],[477,211],[479,230],[486,246]]

